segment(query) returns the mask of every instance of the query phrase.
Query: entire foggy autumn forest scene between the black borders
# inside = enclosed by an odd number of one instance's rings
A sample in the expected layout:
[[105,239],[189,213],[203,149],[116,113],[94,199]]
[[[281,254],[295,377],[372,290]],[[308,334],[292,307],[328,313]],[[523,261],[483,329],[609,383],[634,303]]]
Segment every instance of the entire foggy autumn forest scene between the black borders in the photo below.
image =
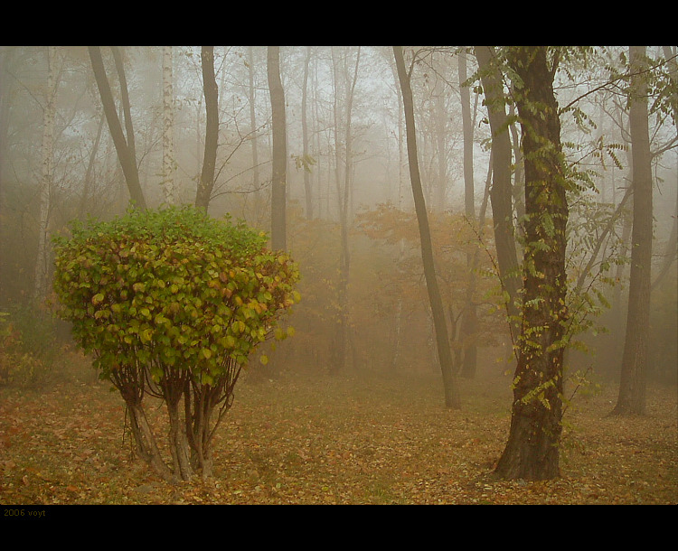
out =
[[675,504],[676,53],[0,47],[5,517]]

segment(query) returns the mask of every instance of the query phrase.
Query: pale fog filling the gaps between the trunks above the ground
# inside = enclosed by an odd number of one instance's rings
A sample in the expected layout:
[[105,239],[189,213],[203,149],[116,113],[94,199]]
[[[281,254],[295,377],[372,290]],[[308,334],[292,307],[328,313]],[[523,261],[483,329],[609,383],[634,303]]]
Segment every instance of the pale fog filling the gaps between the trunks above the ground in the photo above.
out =
[[[131,120],[123,113],[124,90],[111,51],[100,49],[128,143],[133,127],[135,162],[147,206],[166,201],[168,182],[174,202],[191,204],[202,171],[207,124],[201,48],[171,48],[171,87],[163,47],[119,50]],[[611,266],[607,283],[586,280],[607,304],[596,305],[599,316],[581,335],[591,350],[574,351],[569,360],[573,369],[590,367],[596,377],[613,381],[619,378],[625,338],[631,202],[619,212],[617,207],[631,178],[631,148],[626,97],[609,67],[616,66],[625,51],[599,48],[597,61],[587,68],[563,61],[554,85],[560,107],[571,105],[560,115],[567,162],[588,179],[570,198],[568,275],[574,282],[584,266]],[[457,47],[407,47],[406,52],[409,60],[414,55],[418,60],[411,85],[419,168],[451,347],[457,367],[470,350],[477,350],[483,364],[479,374],[501,373],[512,360],[492,263],[492,207],[486,195],[491,133],[484,91],[474,76],[476,57]],[[476,220],[485,209],[484,238],[477,237],[476,221],[465,211],[461,95],[465,83],[460,82],[460,55],[466,56],[473,131],[472,204]],[[666,58],[662,47],[648,47],[648,56]],[[0,60],[0,312],[18,319],[18,313],[29,309],[53,308],[50,237],[64,233],[72,219],[122,214],[129,192],[87,48],[54,47],[48,58],[46,46],[5,46]],[[653,93],[670,81],[669,67],[668,62],[660,64],[658,72],[665,78],[656,79]],[[214,71],[219,134],[209,213],[214,217],[228,213],[268,232],[272,135],[267,48],[214,47]],[[340,366],[344,372],[438,373],[391,47],[281,47],[280,75],[286,108],[287,248],[300,266],[302,302],[289,319],[295,337],[270,354],[266,368],[258,369],[269,377],[287,371],[325,374],[337,346],[341,314],[348,327]],[[673,93],[675,102],[675,89],[666,93]],[[167,94],[169,104],[164,102]],[[653,96],[650,104],[658,105],[653,103],[657,98]],[[656,382],[675,383],[676,126],[671,113],[660,108],[651,111],[648,124],[654,239],[646,374]],[[166,125],[171,126],[171,148]],[[45,131],[48,127],[51,136]],[[513,215],[518,224],[523,173],[520,126],[514,121],[511,131],[512,140],[518,137],[513,141]],[[170,165],[164,163],[168,154]],[[351,265],[342,303],[344,197]],[[598,238],[603,240],[598,243]],[[478,323],[472,334],[462,331],[459,317],[466,304],[469,251],[479,251],[481,259],[474,298]],[[46,285],[39,282],[42,272]],[[60,333],[60,338],[67,336]]]

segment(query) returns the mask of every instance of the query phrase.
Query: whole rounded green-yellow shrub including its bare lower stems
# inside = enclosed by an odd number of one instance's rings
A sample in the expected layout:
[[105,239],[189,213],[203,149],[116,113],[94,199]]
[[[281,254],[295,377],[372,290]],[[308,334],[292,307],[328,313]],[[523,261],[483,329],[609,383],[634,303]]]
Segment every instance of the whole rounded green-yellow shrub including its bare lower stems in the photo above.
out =
[[[260,342],[287,334],[276,326],[299,300],[298,268],[266,243],[193,207],[74,222],[71,238],[55,238],[60,315],[125,399],[137,452],[166,478],[212,474],[240,370]],[[148,394],[167,406],[172,467],[146,421]]]

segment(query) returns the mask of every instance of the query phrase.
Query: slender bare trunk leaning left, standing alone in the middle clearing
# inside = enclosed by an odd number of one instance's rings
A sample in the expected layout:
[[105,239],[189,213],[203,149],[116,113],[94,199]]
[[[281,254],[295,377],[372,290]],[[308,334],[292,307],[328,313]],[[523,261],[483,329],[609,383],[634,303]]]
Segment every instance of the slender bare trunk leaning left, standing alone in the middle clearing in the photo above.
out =
[[407,137],[408,160],[410,163],[410,182],[412,185],[414,208],[417,213],[417,221],[419,224],[421,259],[424,265],[428,302],[431,307],[431,313],[433,314],[433,323],[436,331],[438,360],[440,362],[440,369],[442,370],[443,386],[445,390],[445,405],[458,409],[461,407],[461,399],[459,397],[459,389],[457,388],[457,378],[452,365],[452,352],[449,349],[449,340],[447,338],[445,309],[443,308],[440,289],[438,288],[436,266],[433,260],[433,245],[431,242],[430,229],[428,227],[426,201],[424,200],[424,191],[421,187],[421,178],[419,175],[417,135],[414,124],[414,102],[412,100],[412,89],[410,88],[410,72],[405,68],[402,46],[393,46],[393,55],[398,70],[400,94],[402,96],[402,103],[405,111],[405,135]]

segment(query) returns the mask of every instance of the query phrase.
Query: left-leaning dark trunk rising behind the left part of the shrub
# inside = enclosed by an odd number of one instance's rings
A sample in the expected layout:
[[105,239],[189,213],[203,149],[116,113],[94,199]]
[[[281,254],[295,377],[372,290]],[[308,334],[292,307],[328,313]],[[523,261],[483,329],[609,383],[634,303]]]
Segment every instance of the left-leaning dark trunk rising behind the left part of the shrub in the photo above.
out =
[[[120,119],[118,118],[116,103],[113,99],[113,93],[110,90],[108,77],[106,76],[101,49],[99,46],[88,46],[88,51],[92,70],[94,70],[94,78],[97,80],[99,96],[101,97],[101,103],[104,107],[106,120],[108,121],[108,129],[113,138],[113,145],[116,146],[118,161],[120,162],[122,172],[125,175],[129,196],[138,208],[146,209],[144,192],[141,190],[141,183],[139,182],[139,172],[137,169],[137,158],[134,153],[134,145],[127,143],[127,139],[123,133]],[[131,125],[131,120],[129,120],[129,124]]]

